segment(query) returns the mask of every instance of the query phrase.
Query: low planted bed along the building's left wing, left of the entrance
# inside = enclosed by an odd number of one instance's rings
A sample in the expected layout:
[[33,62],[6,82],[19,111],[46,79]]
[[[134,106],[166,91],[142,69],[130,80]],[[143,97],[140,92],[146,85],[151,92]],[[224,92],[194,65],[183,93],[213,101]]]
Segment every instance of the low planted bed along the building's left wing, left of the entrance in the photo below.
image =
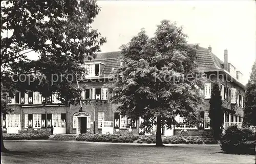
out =
[[3,134],[4,140],[23,140],[23,139],[48,139],[48,134],[33,134],[33,133],[23,133],[23,134]]

